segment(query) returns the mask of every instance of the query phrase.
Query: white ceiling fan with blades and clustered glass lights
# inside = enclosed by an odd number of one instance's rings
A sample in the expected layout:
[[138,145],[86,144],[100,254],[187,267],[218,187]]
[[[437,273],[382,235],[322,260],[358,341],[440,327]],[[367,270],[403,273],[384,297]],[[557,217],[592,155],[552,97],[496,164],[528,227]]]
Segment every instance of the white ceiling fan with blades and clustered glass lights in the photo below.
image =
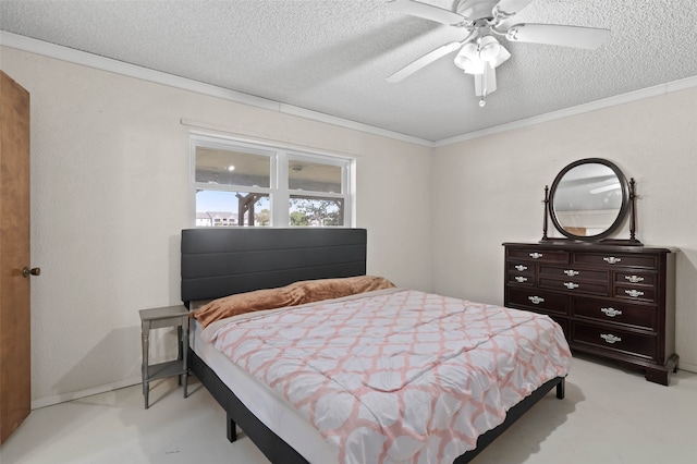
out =
[[610,36],[610,29],[555,24],[513,24],[511,19],[535,0],[460,0],[456,11],[445,10],[415,0],[390,0],[389,7],[401,13],[425,17],[437,23],[460,27],[465,38],[432,50],[390,75],[396,83],[433,61],[457,51],[455,65],[474,75],[475,95],[485,98],[497,89],[496,69],[511,58],[496,36],[510,41],[548,44],[595,50]]

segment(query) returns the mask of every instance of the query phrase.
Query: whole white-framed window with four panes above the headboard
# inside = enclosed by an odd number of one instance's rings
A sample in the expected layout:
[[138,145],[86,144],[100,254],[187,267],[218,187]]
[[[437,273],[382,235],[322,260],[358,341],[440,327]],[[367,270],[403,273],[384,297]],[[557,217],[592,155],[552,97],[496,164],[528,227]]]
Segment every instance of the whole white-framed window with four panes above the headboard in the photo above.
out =
[[351,224],[348,158],[192,135],[196,227]]

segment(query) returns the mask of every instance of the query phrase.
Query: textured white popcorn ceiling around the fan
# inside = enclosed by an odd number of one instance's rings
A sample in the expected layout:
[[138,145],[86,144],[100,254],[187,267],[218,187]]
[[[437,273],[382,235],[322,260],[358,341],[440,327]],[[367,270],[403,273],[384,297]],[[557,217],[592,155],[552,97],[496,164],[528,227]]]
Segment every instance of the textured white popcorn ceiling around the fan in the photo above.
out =
[[0,0],[2,30],[426,141],[697,76],[694,0],[536,0],[516,22],[612,34],[596,51],[503,40],[479,108],[453,56],[386,82],[464,32],[383,0]]

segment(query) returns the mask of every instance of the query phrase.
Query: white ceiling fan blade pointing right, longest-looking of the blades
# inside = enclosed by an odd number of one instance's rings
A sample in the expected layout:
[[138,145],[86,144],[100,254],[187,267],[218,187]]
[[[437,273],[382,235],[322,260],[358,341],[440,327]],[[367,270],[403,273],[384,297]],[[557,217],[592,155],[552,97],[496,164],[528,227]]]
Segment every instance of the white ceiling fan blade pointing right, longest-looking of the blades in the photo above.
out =
[[554,24],[515,24],[505,37],[511,41],[559,45],[595,50],[610,37],[610,29]]

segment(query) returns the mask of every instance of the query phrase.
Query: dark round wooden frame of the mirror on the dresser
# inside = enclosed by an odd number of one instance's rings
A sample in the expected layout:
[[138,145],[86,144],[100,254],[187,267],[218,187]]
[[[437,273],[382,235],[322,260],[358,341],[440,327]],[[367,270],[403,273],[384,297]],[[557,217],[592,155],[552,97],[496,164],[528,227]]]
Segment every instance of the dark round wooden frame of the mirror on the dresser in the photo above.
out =
[[[620,181],[620,186],[622,188],[622,205],[620,207],[620,211],[617,212],[617,217],[612,222],[612,224],[610,224],[603,232],[596,235],[576,235],[566,231],[562,227],[562,224],[559,222],[559,219],[557,218],[557,213],[554,211],[554,194],[557,193],[557,190],[559,188],[559,184],[561,183],[562,179],[568,171],[583,164],[603,164],[610,168],[612,172],[614,172],[614,174],[617,176],[617,180]],[[622,173],[622,171],[620,170],[620,168],[617,168],[613,162],[608,161],[607,159],[585,158],[585,159],[579,159],[578,161],[572,162],[571,164],[562,169],[559,172],[559,174],[557,174],[557,178],[554,178],[554,182],[552,182],[552,187],[549,191],[549,199],[547,198],[547,194],[546,194],[545,203],[547,203],[546,209],[548,210],[549,216],[552,219],[552,223],[554,224],[554,228],[559,231],[559,233],[561,233],[562,235],[564,235],[566,239],[570,239],[570,240],[577,240],[577,241],[584,241],[584,242],[597,242],[608,237],[620,228],[622,222],[625,220],[627,212],[629,211],[631,200],[632,202],[634,200],[634,194],[633,192],[631,192],[629,184],[627,183],[627,180]],[[632,235],[634,235],[634,233],[632,233]]]

